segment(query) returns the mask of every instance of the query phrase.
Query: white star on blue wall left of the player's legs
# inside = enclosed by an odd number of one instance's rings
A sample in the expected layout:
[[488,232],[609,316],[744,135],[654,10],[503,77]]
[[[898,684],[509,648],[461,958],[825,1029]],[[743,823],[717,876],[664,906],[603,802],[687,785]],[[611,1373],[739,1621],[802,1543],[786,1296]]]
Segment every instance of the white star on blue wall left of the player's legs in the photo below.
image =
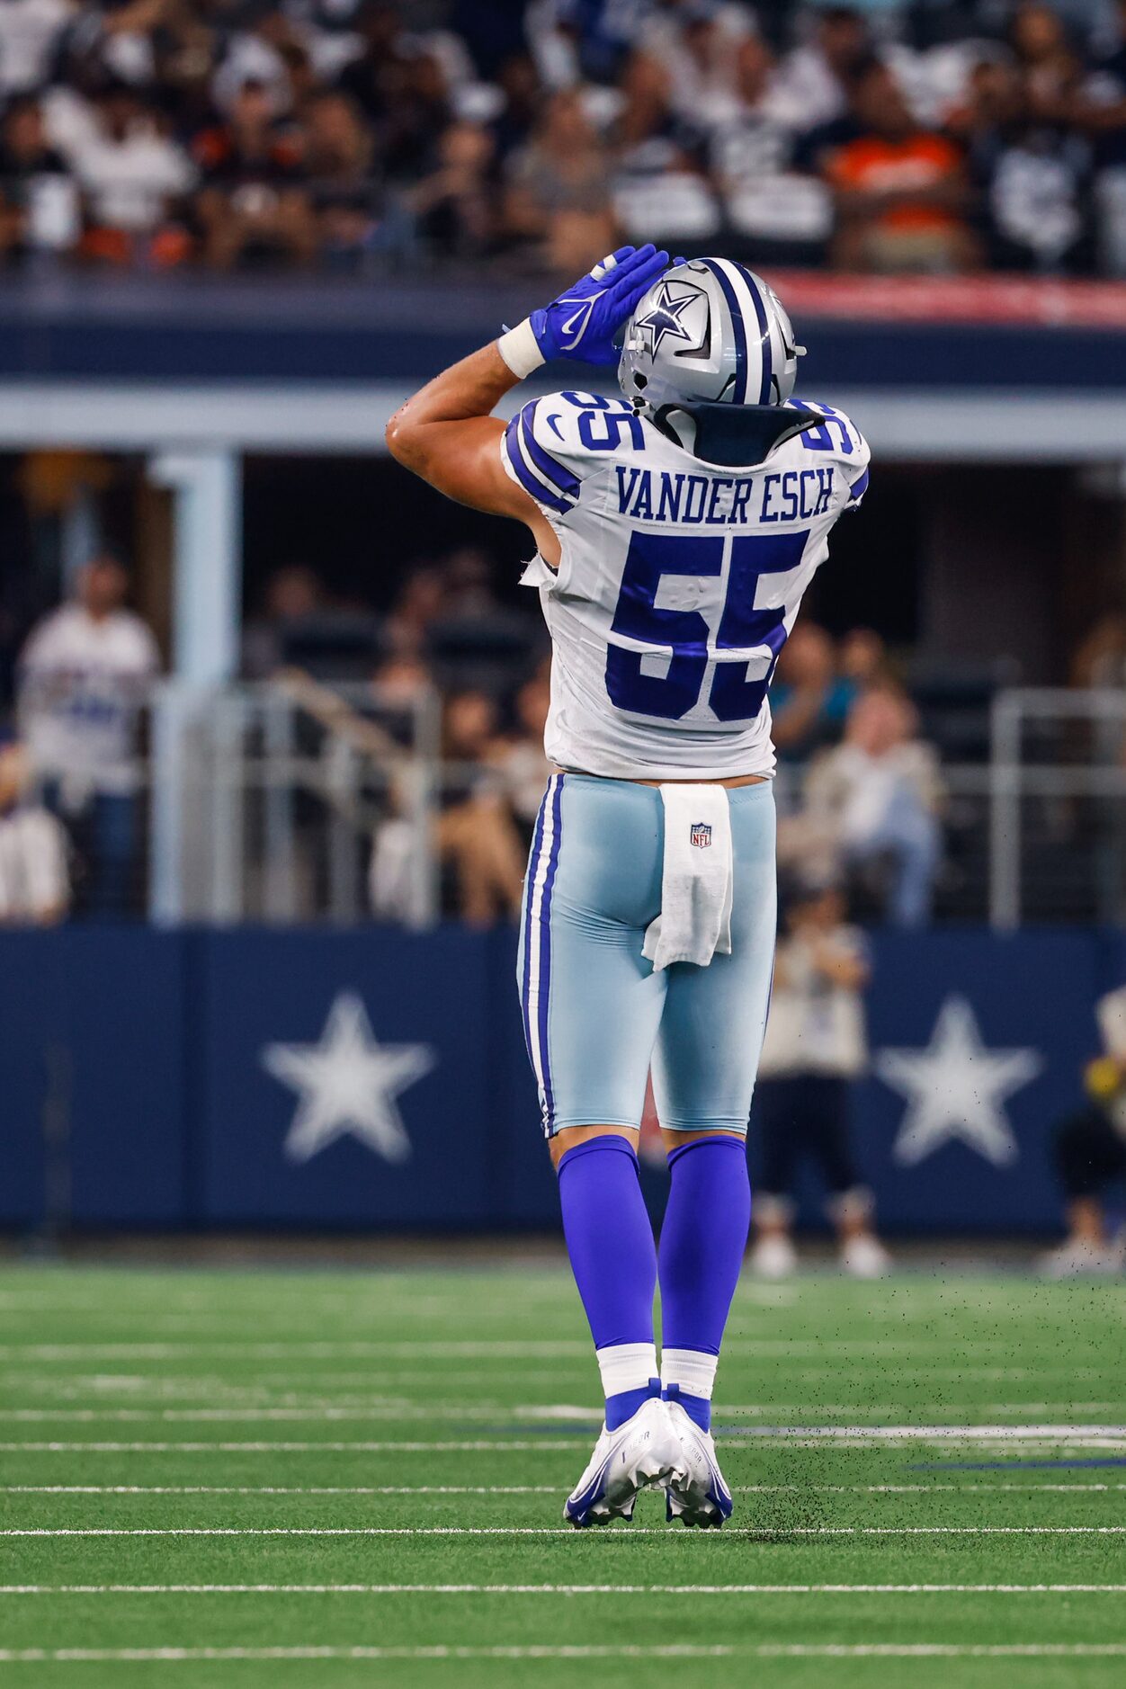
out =
[[395,1098],[434,1067],[429,1044],[380,1044],[355,991],[329,1008],[319,1044],[267,1044],[262,1066],[300,1094],[285,1155],[306,1162],[348,1133],[403,1162],[410,1138]]

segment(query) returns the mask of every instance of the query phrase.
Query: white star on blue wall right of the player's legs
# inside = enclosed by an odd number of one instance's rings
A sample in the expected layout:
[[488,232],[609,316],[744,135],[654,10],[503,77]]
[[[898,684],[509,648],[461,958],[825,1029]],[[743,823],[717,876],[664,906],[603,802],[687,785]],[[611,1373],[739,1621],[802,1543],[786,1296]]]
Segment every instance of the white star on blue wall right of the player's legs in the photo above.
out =
[[949,997],[925,1049],[876,1054],[883,1083],[907,1098],[891,1159],[913,1167],[944,1143],[961,1142],[994,1167],[1015,1162],[1020,1150],[1001,1105],[1042,1066],[1037,1051],[986,1049],[971,1005]]

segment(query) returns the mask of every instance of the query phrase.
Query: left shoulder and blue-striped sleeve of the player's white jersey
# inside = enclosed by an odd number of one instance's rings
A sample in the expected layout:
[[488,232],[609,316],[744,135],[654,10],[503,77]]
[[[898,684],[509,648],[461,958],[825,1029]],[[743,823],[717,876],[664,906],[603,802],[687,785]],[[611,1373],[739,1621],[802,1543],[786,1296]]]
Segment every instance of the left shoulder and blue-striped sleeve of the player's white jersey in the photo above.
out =
[[545,510],[564,515],[579,486],[609,454],[645,446],[640,419],[625,399],[547,394],[532,399],[505,429],[508,473]]

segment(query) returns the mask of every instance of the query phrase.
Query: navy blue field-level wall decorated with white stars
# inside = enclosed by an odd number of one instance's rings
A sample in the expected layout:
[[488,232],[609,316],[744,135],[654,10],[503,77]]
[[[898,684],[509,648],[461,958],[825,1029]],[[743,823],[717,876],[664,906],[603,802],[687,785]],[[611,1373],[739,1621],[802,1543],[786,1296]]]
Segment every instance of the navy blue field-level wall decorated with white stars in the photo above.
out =
[[[78,1228],[554,1226],[513,971],[508,931],[0,934],[0,1226],[39,1226],[47,1204]],[[854,1121],[888,1230],[1058,1225],[1052,1130],[1123,978],[1119,934],[876,936],[885,1078],[856,1086]],[[329,1037],[356,1002],[360,1069]],[[279,1047],[312,1051],[322,1088],[277,1078]],[[398,1152],[378,1062],[410,1069]],[[905,1064],[913,1089],[888,1083]],[[339,1118],[349,1078],[375,1125]]]

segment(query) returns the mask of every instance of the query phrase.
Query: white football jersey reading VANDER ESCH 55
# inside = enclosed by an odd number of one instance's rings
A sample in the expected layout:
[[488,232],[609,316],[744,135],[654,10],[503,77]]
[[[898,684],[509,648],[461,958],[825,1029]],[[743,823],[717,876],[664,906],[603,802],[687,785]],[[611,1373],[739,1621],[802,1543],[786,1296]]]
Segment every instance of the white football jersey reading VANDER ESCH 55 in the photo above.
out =
[[761,463],[704,463],[625,399],[550,394],[501,454],[559,535],[535,557],[552,637],[545,750],[620,779],[771,774],[766,687],[868,444],[827,405]]

